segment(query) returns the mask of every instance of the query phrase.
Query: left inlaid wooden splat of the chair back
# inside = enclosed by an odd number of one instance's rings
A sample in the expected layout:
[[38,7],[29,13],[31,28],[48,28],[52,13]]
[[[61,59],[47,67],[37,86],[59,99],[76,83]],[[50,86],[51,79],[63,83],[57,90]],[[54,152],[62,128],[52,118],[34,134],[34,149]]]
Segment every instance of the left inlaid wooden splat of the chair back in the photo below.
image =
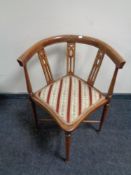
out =
[[51,69],[50,69],[50,66],[48,63],[47,55],[46,55],[45,50],[43,48],[41,48],[38,51],[38,56],[39,56],[39,60],[40,60],[43,72],[45,74],[47,84],[49,84],[53,81],[53,77],[52,77]]

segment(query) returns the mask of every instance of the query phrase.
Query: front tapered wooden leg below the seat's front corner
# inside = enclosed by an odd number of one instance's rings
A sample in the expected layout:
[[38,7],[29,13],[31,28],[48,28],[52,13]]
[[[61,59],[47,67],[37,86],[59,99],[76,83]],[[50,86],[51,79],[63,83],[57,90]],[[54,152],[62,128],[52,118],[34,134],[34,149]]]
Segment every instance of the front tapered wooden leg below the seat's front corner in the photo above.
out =
[[65,132],[66,161],[70,159],[71,133]]

